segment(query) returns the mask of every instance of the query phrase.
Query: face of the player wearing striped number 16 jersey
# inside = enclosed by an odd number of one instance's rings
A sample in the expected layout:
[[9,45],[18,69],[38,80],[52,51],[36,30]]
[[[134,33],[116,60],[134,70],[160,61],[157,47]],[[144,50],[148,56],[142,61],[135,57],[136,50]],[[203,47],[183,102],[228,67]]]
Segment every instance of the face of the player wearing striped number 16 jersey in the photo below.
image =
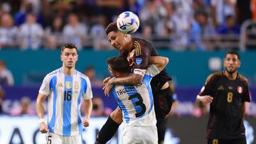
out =
[[78,52],[75,48],[65,48],[60,55],[61,60],[63,61],[63,65],[68,69],[75,67],[75,62],[78,61]]

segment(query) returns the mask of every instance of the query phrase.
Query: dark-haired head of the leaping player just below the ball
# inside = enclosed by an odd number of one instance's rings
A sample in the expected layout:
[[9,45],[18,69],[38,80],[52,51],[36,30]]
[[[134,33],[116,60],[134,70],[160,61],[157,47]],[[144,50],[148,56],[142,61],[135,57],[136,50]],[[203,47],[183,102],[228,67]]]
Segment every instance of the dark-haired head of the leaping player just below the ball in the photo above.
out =
[[132,42],[132,38],[129,34],[124,34],[117,28],[117,23],[110,23],[106,28],[107,39],[110,44],[117,50],[126,50],[127,45]]

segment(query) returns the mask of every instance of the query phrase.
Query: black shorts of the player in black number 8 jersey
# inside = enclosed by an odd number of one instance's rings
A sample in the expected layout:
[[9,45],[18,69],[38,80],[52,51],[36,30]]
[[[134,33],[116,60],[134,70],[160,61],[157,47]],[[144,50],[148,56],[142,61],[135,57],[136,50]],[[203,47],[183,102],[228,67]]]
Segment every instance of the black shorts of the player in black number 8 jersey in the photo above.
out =
[[246,138],[238,138],[232,140],[208,139],[208,144],[246,144]]

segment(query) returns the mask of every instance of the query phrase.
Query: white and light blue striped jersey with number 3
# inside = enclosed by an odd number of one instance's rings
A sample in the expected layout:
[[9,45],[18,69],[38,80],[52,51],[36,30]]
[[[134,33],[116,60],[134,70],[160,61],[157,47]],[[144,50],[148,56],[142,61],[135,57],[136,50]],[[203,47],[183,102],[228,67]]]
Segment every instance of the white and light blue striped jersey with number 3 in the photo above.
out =
[[155,65],[146,70],[142,83],[137,85],[117,85],[110,94],[114,96],[123,114],[123,126],[156,126],[154,99],[150,82],[159,74]]

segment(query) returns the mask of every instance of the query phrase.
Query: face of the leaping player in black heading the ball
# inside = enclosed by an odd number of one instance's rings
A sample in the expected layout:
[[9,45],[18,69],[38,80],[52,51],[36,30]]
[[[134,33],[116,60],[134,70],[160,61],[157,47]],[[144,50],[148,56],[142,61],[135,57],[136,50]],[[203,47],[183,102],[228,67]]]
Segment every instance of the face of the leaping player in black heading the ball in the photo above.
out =
[[114,32],[111,31],[107,34],[107,39],[110,41],[110,44],[117,50],[122,51],[124,50],[124,37],[125,34],[121,33],[120,31]]

